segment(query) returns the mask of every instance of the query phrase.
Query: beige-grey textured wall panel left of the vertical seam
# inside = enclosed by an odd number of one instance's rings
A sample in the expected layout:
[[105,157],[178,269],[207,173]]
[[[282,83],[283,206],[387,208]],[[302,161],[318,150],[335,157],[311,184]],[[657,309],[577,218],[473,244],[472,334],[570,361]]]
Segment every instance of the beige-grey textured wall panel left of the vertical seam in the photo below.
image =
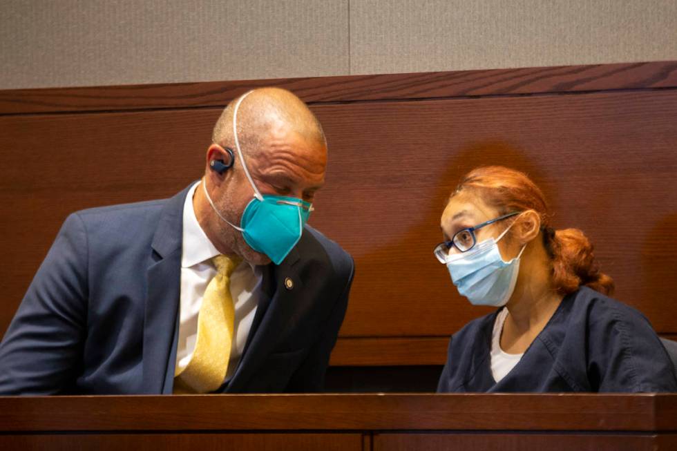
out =
[[348,73],[345,0],[2,0],[0,88]]

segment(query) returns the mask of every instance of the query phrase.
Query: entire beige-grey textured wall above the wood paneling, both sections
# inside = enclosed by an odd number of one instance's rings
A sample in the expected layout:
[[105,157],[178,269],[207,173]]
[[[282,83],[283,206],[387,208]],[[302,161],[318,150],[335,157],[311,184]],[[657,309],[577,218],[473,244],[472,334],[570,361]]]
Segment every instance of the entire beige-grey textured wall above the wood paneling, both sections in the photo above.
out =
[[677,59],[677,0],[0,0],[0,89]]

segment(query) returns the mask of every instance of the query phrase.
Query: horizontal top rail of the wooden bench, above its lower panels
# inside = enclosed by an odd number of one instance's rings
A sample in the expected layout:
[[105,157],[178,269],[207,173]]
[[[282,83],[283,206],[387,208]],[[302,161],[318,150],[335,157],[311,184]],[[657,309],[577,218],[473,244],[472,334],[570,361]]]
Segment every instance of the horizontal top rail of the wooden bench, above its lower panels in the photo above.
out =
[[677,394],[4,396],[0,431],[670,432],[676,409]]

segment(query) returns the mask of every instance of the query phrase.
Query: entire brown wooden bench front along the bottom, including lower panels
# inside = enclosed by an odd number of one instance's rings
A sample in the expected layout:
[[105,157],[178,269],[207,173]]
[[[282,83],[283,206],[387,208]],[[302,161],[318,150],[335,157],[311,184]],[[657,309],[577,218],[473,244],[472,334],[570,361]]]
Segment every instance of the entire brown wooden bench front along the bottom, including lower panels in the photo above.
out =
[[674,450],[677,394],[0,397],[0,449]]

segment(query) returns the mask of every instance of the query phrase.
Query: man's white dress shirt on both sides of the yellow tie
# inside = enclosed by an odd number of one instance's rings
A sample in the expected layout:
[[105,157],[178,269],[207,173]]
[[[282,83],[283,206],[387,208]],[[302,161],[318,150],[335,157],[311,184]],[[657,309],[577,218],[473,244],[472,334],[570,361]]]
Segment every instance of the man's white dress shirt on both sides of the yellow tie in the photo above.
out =
[[[198,338],[198,313],[202,305],[202,296],[211,279],[216,276],[216,269],[210,259],[219,254],[204,234],[193,209],[193,194],[198,184],[199,182],[189,189],[183,207],[181,313],[175,370],[186,367],[193,356]],[[235,329],[225,381],[235,372],[242,350],[245,349],[260,299],[262,278],[260,267],[253,267],[244,261],[230,277],[230,292],[235,303]]]

